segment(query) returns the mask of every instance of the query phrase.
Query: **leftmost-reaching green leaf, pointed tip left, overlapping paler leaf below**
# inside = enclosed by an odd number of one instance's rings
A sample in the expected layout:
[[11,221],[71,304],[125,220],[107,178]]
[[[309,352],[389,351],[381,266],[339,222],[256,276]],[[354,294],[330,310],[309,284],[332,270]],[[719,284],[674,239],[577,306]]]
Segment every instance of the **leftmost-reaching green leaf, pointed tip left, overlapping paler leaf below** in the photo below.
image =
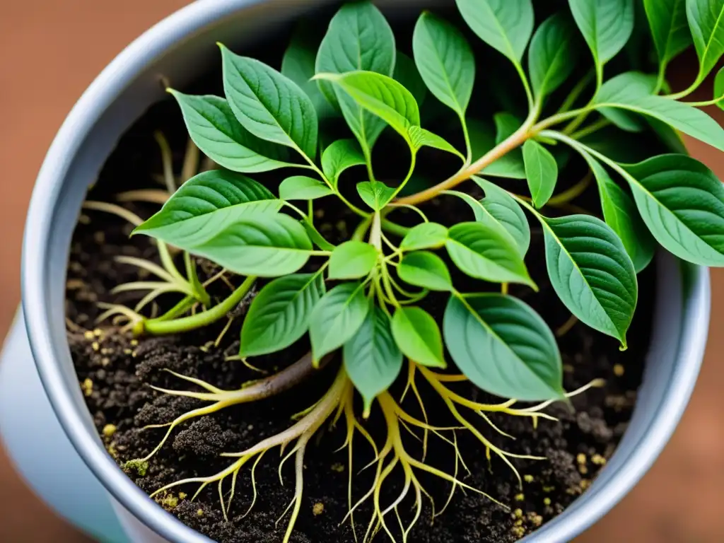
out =
[[133,233],[188,249],[234,222],[273,215],[281,207],[282,202],[264,185],[241,174],[212,169],[181,185],[161,211]]

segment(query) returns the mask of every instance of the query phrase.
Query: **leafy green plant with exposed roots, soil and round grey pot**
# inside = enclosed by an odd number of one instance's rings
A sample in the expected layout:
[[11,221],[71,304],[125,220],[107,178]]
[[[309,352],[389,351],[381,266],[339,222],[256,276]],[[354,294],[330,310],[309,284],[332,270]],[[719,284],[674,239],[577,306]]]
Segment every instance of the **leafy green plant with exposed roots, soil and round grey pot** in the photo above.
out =
[[[724,52],[724,4],[457,0],[390,25],[363,1],[244,56],[225,37],[248,3],[229,4],[157,43],[203,28],[184,52],[219,41],[221,73],[197,92],[153,71],[174,99],[94,155],[75,233],[80,148],[55,203],[34,197],[28,328],[78,452],[171,541],[570,539],[647,468],[696,376],[702,272],[654,255],[724,262],[724,189],[678,137],[724,148],[696,109],[720,77],[685,101]],[[692,41],[699,76],[671,93]],[[49,206],[63,219],[33,222]],[[69,246],[64,336],[29,264]]]

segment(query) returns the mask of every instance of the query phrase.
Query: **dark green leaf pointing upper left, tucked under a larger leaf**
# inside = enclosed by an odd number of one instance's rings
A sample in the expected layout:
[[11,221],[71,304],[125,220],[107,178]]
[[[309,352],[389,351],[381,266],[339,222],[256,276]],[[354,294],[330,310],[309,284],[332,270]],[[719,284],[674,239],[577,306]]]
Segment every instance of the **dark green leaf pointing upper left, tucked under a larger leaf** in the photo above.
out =
[[224,98],[169,90],[181,107],[193,143],[216,164],[234,172],[269,172],[290,166],[287,149],[261,140],[239,124]]

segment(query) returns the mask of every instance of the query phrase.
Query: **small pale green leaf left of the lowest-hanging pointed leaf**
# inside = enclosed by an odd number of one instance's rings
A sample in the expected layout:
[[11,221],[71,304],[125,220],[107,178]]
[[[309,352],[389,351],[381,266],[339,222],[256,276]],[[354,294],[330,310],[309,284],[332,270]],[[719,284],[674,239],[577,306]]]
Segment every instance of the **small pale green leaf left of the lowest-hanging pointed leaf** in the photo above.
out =
[[309,336],[312,358],[319,362],[348,342],[369,314],[369,302],[361,283],[342,283],[319,300],[312,313]]

